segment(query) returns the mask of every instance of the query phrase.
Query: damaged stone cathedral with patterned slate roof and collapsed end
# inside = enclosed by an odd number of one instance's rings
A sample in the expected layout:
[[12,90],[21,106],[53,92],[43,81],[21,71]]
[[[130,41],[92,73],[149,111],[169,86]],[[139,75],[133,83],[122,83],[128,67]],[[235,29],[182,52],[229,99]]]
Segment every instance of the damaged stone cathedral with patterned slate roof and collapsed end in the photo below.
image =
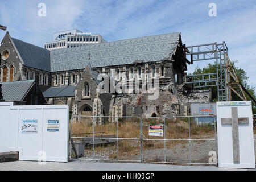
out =
[[[79,35],[72,38],[76,37],[79,40]],[[210,90],[193,90],[184,83],[187,60],[180,32],[51,50],[12,38],[7,32],[0,53],[6,61],[1,84],[34,80],[45,102],[31,94],[33,99],[26,104],[67,104],[73,115],[189,115],[192,102],[211,101]],[[99,75],[114,77],[114,83],[122,86],[133,83],[134,89],[100,93],[97,88],[105,78]],[[158,81],[145,85],[144,75]],[[149,85],[158,89],[158,97],[150,99]]]

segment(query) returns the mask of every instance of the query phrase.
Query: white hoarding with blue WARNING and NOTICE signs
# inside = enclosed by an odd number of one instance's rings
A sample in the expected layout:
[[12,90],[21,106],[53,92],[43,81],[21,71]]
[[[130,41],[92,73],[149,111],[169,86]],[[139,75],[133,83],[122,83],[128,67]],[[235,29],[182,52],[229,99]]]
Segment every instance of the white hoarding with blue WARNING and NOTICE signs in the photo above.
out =
[[0,102],[0,114],[0,151],[19,151],[19,160],[68,162],[68,105]]

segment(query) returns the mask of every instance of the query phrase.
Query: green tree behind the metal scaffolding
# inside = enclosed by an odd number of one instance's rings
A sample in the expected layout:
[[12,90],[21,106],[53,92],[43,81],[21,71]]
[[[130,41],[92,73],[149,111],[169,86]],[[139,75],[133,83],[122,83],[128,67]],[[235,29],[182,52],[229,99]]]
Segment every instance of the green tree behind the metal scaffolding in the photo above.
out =
[[[248,81],[249,77],[247,77],[246,72],[243,69],[236,67],[237,63],[238,63],[238,60],[232,61],[232,65],[233,65],[234,70],[236,71],[237,77],[240,80],[240,82],[242,83],[242,85],[245,87],[247,92],[249,92],[250,95],[255,99],[255,96],[256,96],[255,88],[254,88],[254,86],[250,86],[248,84],[247,81]],[[218,65],[218,68],[220,68],[220,65]],[[195,75],[195,74],[204,74],[204,73],[216,73],[216,64],[209,63],[207,65],[207,67],[205,67],[203,69],[201,69],[197,66],[195,68],[194,72],[191,74]],[[205,76],[205,78],[207,78],[207,77]],[[209,89],[209,87],[199,88],[199,90],[202,90],[202,89]],[[240,88],[236,88],[236,91],[242,96],[242,92],[241,92]],[[236,93],[232,92],[231,96],[232,96],[232,101],[241,101],[241,98],[239,96],[237,96]],[[251,98],[249,96],[247,96],[246,93],[245,93],[245,96],[248,101],[251,100]],[[214,102],[218,101],[217,86],[212,87],[212,98],[213,98]],[[256,114],[256,104],[253,101],[252,101],[252,105],[253,105],[253,114]]]

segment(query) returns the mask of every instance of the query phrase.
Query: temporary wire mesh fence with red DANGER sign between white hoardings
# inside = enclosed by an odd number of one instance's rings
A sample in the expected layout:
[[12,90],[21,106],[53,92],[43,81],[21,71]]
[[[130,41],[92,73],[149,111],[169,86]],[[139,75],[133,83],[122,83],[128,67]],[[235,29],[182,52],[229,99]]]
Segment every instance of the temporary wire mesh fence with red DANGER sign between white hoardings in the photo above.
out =
[[[154,128],[158,126],[162,130]],[[69,157],[73,160],[217,165],[213,116],[74,115],[70,138]]]

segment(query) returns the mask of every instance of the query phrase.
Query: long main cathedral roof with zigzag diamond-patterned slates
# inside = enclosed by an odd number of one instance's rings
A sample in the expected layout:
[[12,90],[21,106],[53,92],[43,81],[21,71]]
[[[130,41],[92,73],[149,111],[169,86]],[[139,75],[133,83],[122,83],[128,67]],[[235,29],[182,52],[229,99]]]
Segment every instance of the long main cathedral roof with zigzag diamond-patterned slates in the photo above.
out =
[[176,32],[52,50],[51,72],[84,69],[89,62],[96,68],[170,59],[179,39]]

